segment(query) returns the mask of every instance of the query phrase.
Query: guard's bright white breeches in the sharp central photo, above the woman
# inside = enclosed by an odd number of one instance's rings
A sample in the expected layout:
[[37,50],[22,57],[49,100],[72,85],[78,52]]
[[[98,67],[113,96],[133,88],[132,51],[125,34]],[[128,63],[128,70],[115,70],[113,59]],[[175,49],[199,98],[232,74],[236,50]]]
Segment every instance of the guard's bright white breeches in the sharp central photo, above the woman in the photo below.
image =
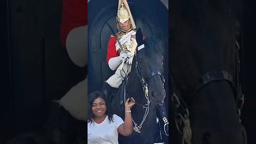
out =
[[122,70],[119,69],[120,67],[121,65],[116,69],[116,73],[106,81],[111,87],[115,87],[117,89],[121,85],[125,75],[131,72],[131,65],[127,63],[124,63]]

